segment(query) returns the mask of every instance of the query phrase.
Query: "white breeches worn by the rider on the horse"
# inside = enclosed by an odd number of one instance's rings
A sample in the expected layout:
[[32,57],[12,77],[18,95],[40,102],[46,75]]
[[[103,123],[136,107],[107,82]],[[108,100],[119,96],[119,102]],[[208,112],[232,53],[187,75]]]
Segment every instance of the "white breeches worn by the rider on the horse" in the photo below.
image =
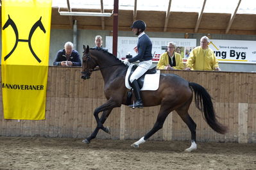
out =
[[141,77],[144,73],[146,73],[146,71],[148,71],[151,65],[152,60],[140,62],[136,70],[134,70],[134,72],[132,73],[130,81],[133,82],[135,79],[139,79],[139,77]]

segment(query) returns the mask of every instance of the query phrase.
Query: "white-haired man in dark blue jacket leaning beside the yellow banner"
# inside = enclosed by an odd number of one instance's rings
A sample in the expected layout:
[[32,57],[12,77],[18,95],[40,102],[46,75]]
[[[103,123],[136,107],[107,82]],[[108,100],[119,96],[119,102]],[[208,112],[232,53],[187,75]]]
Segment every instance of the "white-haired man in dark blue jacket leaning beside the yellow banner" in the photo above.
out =
[[73,50],[73,43],[66,42],[64,49],[57,52],[55,66],[81,66],[80,54],[77,50]]

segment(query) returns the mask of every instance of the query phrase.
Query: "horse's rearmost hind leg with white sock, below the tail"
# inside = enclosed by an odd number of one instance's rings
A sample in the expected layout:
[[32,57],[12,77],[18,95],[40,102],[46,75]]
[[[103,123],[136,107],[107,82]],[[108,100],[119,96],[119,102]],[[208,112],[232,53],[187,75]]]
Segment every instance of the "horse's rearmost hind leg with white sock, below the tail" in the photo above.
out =
[[189,130],[191,132],[191,146],[187,148],[185,151],[191,152],[192,150],[196,150],[196,123],[192,120],[191,116],[189,116],[189,105],[191,102],[187,102],[182,107],[176,109],[176,112],[178,112],[178,115],[180,115],[180,118],[186,123],[187,127],[189,127]]

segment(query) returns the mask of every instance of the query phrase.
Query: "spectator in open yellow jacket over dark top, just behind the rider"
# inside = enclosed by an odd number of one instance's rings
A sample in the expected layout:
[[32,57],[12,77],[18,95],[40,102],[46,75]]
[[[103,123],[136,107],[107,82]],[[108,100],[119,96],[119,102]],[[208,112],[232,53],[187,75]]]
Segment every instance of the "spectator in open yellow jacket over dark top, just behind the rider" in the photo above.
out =
[[161,55],[160,60],[157,63],[157,69],[163,70],[184,70],[182,57],[175,52],[176,45],[173,42],[169,42],[167,46],[167,52]]

